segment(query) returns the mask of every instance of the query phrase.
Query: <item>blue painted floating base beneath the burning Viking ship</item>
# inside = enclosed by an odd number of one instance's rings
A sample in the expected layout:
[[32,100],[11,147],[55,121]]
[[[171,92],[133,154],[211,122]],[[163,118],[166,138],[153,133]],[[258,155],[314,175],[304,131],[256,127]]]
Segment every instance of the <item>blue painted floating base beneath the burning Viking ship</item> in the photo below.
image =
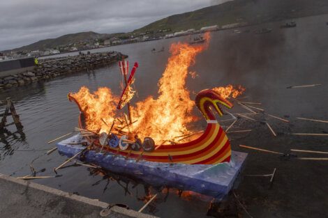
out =
[[[59,142],[57,148],[59,153],[72,157],[85,148],[78,144],[83,141],[84,139],[77,134]],[[190,165],[147,162],[142,159],[136,162],[135,159],[126,159],[120,155],[115,157],[112,153],[98,153],[90,150],[85,155],[85,161],[114,173],[131,175],[150,185],[165,185],[221,199],[232,189],[246,156],[246,153],[232,151],[230,163]]]

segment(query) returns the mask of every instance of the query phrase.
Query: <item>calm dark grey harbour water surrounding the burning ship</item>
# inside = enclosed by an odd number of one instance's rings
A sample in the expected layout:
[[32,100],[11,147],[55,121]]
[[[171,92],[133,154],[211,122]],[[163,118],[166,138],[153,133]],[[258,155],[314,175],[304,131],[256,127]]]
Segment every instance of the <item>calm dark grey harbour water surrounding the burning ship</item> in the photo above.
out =
[[[242,84],[244,96],[249,102],[262,102],[260,107],[276,116],[285,116],[290,124],[267,118],[278,137],[274,138],[266,127],[259,123],[241,120],[237,127],[251,128],[251,134],[231,134],[232,148],[249,153],[243,177],[236,192],[246,203],[254,217],[324,217],[327,215],[328,164],[281,160],[274,155],[242,150],[239,144],[257,146],[285,152],[290,148],[327,150],[327,137],[291,137],[290,132],[326,132],[327,124],[299,121],[297,117],[328,119],[328,15],[306,17],[296,20],[297,27],[279,29],[281,23],[251,26],[241,30],[249,33],[232,34],[232,30],[212,33],[210,47],[199,54],[191,71],[197,72],[196,79],[188,79],[187,86],[193,93],[204,88]],[[255,35],[253,31],[268,27],[271,33]],[[157,82],[170,56],[172,42],[188,40],[186,37],[142,42],[117,47],[94,49],[91,52],[115,50],[128,54],[129,61],[138,61],[135,86],[142,100],[158,91]],[[153,48],[165,47],[165,52],[151,53]],[[9,127],[8,134],[1,135],[0,172],[13,176],[30,173],[29,164],[38,169],[45,168],[43,175],[52,174],[52,169],[66,159],[57,153],[44,155],[44,149],[54,147],[47,141],[71,132],[77,126],[78,111],[75,104],[66,98],[67,93],[78,91],[81,86],[96,90],[109,86],[119,94],[119,69],[117,65],[94,72],[80,72],[60,77],[42,84],[12,89],[0,93],[0,100],[13,98],[15,107],[24,125],[24,135]],[[287,86],[322,84],[313,88],[287,89]],[[192,98],[195,95],[193,94]],[[234,111],[243,111],[240,108]],[[199,113],[195,110],[195,115]],[[264,117],[258,117],[264,120]],[[225,123],[229,125],[230,123]],[[199,126],[204,126],[200,120]],[[34,151],[23,151],[34,150]],[[311,156],[311,155],[308,155]],[[313,156],[313,155],[312,155]],[[278,168],[274,186],[269,188],[267,178],[247,178],[246,174],[267,174]],[[301,169],[301,171],[300,171]],[[61,170],[64,176],[35,180],[66,192],[77,192],[82,196],[98,198],[109,203],[125,203],[134,210],[144,204],[144,185],[129,192],[114,180],[106,187],[107,180],[92,175],[83,166]],[[315,178],[315,180],[313,180]],[[124,184],[124,178],[122,183]],[[124,186],[124,185],[123,185]],[[152,190],[155,193],[156,191]],[[325,194],[326,193],[326,194]],[[208,198],[179,198],[160,194],[153,207],[145,212],[159,217],[207,217]],[[311,203],[309,203],[311,202]],[[307,205],[304,207],[304,205]],[[243,211],[239,208],[239,213]]]

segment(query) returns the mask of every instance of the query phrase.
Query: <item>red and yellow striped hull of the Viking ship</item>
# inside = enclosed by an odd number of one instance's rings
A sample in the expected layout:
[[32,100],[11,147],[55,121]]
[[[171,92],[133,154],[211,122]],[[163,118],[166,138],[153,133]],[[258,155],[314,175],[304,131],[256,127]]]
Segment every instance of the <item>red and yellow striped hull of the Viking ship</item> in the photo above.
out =
[[[134,150],[119,150],[105,146],[103,150],[128,158],[144,159],[149,162],[167,162],[181,164],[218,164],[230,162],[230,141],[216,120],[210,120],[204,133],[188,143],[161,145],[147,153]],[[99,143],[95,143],[100,146]]]

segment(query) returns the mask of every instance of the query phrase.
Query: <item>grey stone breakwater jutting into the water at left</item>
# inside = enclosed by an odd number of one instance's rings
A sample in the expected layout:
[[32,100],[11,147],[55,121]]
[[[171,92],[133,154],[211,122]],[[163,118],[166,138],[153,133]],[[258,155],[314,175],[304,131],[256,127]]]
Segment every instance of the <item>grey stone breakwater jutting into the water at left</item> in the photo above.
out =
[[93,70],[127,57],[127,55],[121,54],[120,52],[102,52],[39,60],[38,65],[32,71],[0,77],[0,89],[25,86],[38,81],[47,81],[72,72]]

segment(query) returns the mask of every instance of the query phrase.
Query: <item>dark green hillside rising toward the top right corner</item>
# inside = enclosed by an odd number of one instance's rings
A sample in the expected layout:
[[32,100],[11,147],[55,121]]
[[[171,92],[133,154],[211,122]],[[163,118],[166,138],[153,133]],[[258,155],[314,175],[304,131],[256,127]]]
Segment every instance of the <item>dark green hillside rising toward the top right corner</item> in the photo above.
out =
[[160,29],[181,31],[237,22],[258,24],[322,13],[328,13],[327,0],[234,0],[188,13],[172,15],[133,32],[156,32]]

